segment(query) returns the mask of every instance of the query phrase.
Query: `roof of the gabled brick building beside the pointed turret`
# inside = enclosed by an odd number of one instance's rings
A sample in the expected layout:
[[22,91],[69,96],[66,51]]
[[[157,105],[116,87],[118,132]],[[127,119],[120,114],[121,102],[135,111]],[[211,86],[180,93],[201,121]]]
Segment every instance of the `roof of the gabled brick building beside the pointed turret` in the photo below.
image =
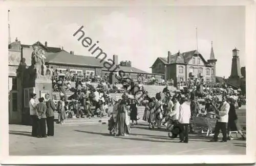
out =
[[[209,63],[207,61],[205,61],[205,59],[203,58],[203,56],[201,55],[201,53],[197,52],[197,50],[192,50],[192,51],[187,51],[187,52],[177,52],[176,54],[173,54],[172,56],[169,57],[169,64],[187,64],[194,55],[197,55],[202,59],[202,61],[204,62],[204,64],[209,65]],[[160,60],[164,65],[168,64],[168,60],[167,58],[163,58],[163,57],[158,57],[157,60]],[[157,61],[156,60],[156,61]],[[155,61],[155,62],[156,62]],[[154,63],[155,64],[155,63]],[[152,67],[154,66],[154,64],[152,65]],[[152,68],[151,67],[151,68]]]

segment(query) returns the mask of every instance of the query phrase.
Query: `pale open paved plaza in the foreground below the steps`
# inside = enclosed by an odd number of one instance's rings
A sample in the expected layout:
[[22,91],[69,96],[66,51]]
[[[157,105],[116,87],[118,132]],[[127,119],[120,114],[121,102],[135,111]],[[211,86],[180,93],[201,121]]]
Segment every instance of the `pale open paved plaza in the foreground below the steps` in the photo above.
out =
[[243,155],[246,142],[208,142],[211,137],[189,135],[189,143],[169,139],[167,132],[132,127],[128,136],[110,136],[108,125],[56,126],[55,136],[31,137],[31,126],[9,125],[10,155]]

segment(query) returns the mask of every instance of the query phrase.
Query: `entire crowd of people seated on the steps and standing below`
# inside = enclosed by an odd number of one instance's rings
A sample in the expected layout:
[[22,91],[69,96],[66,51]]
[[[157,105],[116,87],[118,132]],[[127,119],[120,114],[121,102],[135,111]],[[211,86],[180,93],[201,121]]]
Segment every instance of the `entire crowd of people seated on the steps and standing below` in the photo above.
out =
[[[150,79],[154,82],[154,76]],[[242,129],[239,125],[236,115],[236,108],[245,104],[245,95],[240,90],[234,90],[226,84],[205,82],[198,78],[189,78],[187,81],[180,81],[177,84],[177,90],[170,92],[166,85],[162,92],[150,97],[144,89],[144,76],[138,75],[137,79],[132,79],[129,75],[117,76],[118,81],[112,88],[109,86],[108,76],[95,79],[95,77],[71,75],[66,73],[53,72],[53,88],[60,92],[60,100],[54,103],[49,94],[45,98],[39,98],[36,103],[36,95],[32,94],[30,100],[30,115],[32,116],[32,136],[46,137],[54,135],[54,111],[58,112],[59,124],[65,123],[67,118],[92,118],[92,117],[110,117],[109,130],[114,135],[127,135],[131,133],[130,120],[132,125],[136,125],[138,120],[138,106],[145,106],[143,117],[148,122],[148,128],[166,127],[168,123],[174,126],[171,137],[179,135],[181,142],[188,142],[188,132],[195,132],[195,119],[199,116],[216,119],[212,141],[218,140],[219,130],[223,133],[223,142],[230,140],[230,134],[227,131],[239,131]],[[67,97],[66,92],[71,91],[70,83],[75,81],[73,95]],[[97,82],[95,88],[91,82]],[[173,84],[173,80],[169,80]],[[122,84],[123,93],[121,99],[114,100],[111,93],[119,92],[117,83]],[[148,84],[148,83],[145,83]],[[150,83],[151,84],[151,83]],[[57,86],[56,86],[57,85]],[[141,93],[140,97],[134,94],[134,86]],[[203,105],[202,107],[202,100]],[[201,102],[201,104],[200,104]],[[94,106],[94,109],[91,109]],[[113,112],[109,110],[113,106]],[[47,134],[46,134],[47,124]],[[226,124],[228,127],[226,128]],[[178,128],[178,130],[177,130]]]

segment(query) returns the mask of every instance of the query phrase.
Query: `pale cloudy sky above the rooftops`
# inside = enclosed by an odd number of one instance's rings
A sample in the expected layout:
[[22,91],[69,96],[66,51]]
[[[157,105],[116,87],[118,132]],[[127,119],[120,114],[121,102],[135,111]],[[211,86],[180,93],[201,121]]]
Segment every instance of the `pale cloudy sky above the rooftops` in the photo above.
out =
[[157,57],[197,49],[207,60],[213,41],[217,75],[230,75],[232,49],[240,49],[245,64],[245,8],[237,6],[189,7],[22,7],[10,9],[11,39],[22,44],[36,41],[91,56],[73,37],[81,25],[112,58],[130,60],[151,72]]

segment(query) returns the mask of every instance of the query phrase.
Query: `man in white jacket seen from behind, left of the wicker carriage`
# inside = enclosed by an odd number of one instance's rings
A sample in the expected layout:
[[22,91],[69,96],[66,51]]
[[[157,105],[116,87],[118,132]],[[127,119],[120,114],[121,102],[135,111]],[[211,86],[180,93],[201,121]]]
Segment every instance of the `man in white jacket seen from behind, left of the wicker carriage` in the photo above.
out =
[[189,128],[189,119],[191,116],[190,104],[187,97],[181,98],[181,105],[179,108],[179,123],[181,124],[180,132],[180,143],[188,143],[188,128]]

